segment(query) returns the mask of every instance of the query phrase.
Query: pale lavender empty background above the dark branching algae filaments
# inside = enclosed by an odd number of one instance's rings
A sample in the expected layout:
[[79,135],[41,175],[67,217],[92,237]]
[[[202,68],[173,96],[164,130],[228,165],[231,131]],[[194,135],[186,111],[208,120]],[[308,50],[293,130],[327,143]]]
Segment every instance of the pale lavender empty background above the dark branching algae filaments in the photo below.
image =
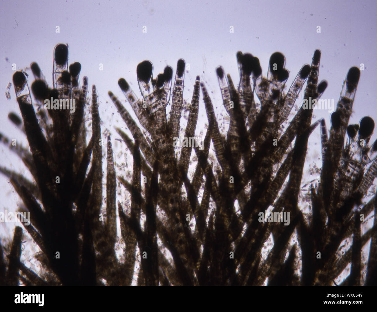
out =
[[[116,109],[107,96],[112,90],[122,100],[117,81],[124,77],[136,94],[136,65],[150,59],[154,76],[168,64],[175,70],[179,58],[190,64],[185,77],[184,97],[191,100],[192,85],[200,75],[213,91],[213,101],[221,111],[221,94],[215,68],[222,65],[238,82],[236,52],[250,52],[259,57],[264,75],[271,53],[280,51],[287,58],[290,70],[289,86],[301,66],[310,63],[315,49],[322,50],[319,78],[329,86],[323,98],[339,99],[343,80],[349,67],[365,64],[361,72],[355,113],[351,122],[369,115],[377,120],[376,83],[376,10],[373,0],[363,1],[2,1],[0,3],[0,132],[17,142],[25,137],[8,121],[9,111],[19,113],[14,88],[11,100],[4,92],[12,79],[12,63],[17,70],[38,62],[49,83],[52,83],[53,49],[57,43],[69,44],[69,62],[81,62],[80,79],[89,77],[100,94],[104,128],[112,133],[119,120]],[[143,33],[143,26],[147,33]],[[60,26],[60,33],[55,33]],[[229,27],[234,27],[234,33]],[[316,27],[321,26],[321,33]],[[5,59],[8,58],[9,61]],[[103,63],[100,71],[98,64]],[[29,71],[30,73],[30,71]],[[32,82],[32,76],[29,84]],[[108,102],[110,101],[110,102]],[[108,102],[108,103],[107,103]],[[115,115],[112,115],[115,113]],[[329,113],[324,117],[328,128]],[[199,128],[206,122],[201,102]],[[115,116],[115,117],[114,117]],[[198,131],[197,131],[198,132]],[[318,139],[319,135],[314,137]],[[373,136],[373,138],[375,135]],[[319,154],[319,146],[312,154]],[[23,166],[0,146],[0,165],[25,172]],[[15,210],[18,197],[11,193],[7,178],[0,175],[0,211]],[[10,227],[9,227],[10,226]],[[0,233],[12,235],[12,225],[0,225]]]

